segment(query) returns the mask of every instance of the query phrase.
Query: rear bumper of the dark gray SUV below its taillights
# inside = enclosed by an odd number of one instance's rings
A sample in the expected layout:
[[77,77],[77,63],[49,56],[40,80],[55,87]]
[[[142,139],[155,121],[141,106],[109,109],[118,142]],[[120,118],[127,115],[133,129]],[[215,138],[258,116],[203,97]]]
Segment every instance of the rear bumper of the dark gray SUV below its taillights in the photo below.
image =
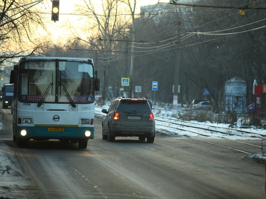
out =
[[155,136],[155,124],[149,123],[147,127],[121,127],[120,124],[111,123],[111,135],[113,136]]

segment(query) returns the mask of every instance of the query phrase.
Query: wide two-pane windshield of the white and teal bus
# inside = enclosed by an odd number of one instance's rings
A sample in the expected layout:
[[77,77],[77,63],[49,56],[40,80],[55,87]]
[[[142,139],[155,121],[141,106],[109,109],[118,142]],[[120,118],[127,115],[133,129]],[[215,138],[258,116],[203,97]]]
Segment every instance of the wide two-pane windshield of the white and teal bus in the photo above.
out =
[[91,103],[93,66],[77,61],[25,61],[19,72],[19,100]]

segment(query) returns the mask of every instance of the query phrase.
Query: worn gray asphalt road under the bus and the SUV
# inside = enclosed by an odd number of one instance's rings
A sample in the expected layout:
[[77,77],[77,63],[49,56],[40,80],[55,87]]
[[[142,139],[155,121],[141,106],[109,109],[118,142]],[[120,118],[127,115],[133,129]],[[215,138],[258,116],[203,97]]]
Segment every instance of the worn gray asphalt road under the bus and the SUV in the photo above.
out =
[[[243,153],[260,149],[222,139],[156,136],[154,143],[137,138],[102,140],[101,121],[87,149],[59,141],[12,141],[12,115],[1,110],[5,126],[0,141],[20,161],[34,187],[10,198],[39,199],[265,199],[265,165]],[[253,144],[261,141],[247,140]],[[1,188],[1,187],[0,187]],[[1,195],[0,195],[1,197]]]

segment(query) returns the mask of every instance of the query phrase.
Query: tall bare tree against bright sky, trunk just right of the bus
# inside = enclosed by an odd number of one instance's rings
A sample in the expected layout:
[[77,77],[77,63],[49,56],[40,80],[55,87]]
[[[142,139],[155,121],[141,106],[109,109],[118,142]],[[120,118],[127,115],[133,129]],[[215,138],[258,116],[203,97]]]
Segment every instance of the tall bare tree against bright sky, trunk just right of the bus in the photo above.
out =
[[87,46],[89,44],[87,48],[99,52],[98,63],[101,62],[103,66],[101,90],[104,105],[110,68],[119,70],[118,67],[113,67],[116,63],[114,60],[118,59],[117,54],[114,53],[123,48],[123,46],[118,47],[119,44],[113,40],[124,39],[127,36],[128,20],[118,14],[121,4],[118,0],[103,0],[100,7],[97,7],[99,4],[95,5],[92,0],[82,0],[82,3],[82,6],[77,5],[77,9],[87,17],[87,24],[90,26],[83,28],[83,33],[87,32],[85,36],[74,32],[74,38],[75,41],[86,43]]

